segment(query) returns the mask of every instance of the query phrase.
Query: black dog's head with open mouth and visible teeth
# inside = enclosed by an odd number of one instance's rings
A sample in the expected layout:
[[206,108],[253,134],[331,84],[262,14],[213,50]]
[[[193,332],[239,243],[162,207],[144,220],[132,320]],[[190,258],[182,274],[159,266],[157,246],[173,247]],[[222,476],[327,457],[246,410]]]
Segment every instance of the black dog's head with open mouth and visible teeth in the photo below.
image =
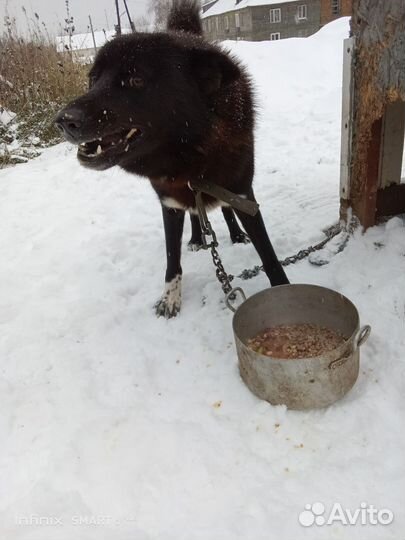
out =
[[93,169],[161,159],[197,146],[212,129],[216,102],[241,76],[228,55],[187,34],[131,34],[97,54],[89,90],[56,118]]

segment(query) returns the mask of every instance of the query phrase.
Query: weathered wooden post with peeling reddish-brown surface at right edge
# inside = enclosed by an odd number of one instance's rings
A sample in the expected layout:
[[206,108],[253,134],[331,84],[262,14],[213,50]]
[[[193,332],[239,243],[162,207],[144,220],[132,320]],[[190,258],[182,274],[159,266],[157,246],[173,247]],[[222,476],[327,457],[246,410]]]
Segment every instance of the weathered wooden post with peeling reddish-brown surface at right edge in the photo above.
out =
[[[351,207],[364,227],[379,215],[405,212],[399,204],[405,136],[405,1],[354,0],[355,40],[350,136],[342,135],[341,215]],[[346,158],[345,158],[346,156]],[[395,186],[392,190],[389,186]],[[388,190],[388,191],[387,191]],[[391,195],[390,195],[391,193]],[[405,191],[404,191],[405,197]],[[390,202],[391,199],[391,202]]]

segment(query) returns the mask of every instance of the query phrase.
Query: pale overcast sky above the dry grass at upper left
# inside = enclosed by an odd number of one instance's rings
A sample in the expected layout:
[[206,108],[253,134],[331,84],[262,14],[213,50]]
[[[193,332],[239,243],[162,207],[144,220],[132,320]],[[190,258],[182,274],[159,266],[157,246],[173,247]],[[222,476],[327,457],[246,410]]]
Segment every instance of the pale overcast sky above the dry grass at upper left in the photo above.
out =
[[[127,0],[127,5],[131,17],[136,20],[137,17],[146,14],[148,0]],[[120,11],[123,13],[123,26],[127,25],[127,16],[123,0],[119,0]],[[3,18],[8,11],[10,16],[17,19],[18,27],[24,30],[26,27],[25,16],[22,7],[25,7],[29,16],[36,12],[44,21],[50,33],[60,34],[60,24],[64,25],[66,18],[65,0],[0,0],[0,17],[3,28]],[[101,30],[107,26],[113,30],[117,22],[115,11],[115,0],[69,0],[70,14],[74,18],[76,33],[86,32],[91,15],[94,29]]]

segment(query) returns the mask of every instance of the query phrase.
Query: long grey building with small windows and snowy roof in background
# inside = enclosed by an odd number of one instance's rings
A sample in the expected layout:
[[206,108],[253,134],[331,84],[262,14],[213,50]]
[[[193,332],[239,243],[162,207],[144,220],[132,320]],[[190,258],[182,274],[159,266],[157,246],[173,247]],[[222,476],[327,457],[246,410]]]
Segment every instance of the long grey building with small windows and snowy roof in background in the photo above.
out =
[[203,0],[204,35],[249,41],[307,37],[351,14],[352,0]]

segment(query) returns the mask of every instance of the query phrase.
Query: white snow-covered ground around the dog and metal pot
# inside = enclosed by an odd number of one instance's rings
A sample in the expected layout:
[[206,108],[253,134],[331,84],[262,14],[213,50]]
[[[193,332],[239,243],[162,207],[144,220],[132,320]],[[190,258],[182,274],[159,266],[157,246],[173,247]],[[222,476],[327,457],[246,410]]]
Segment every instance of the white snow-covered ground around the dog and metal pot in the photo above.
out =
[[[347,32],[229,44],[257,83],[256,193],[280,257],[338,218]],[[304,413],[241,382],[208,253],[184,250],[182,312],[155,317],[164,239],[148,182],[80,168],[61,144],[0,171],[0,215],[1,539],[405,538],[404,220],[357,231],[327,266],[288,267],[372,325],[352,391]],[[230,272],[258,262],[212,221]],[[314,502],[395,517],[305,528]]]

